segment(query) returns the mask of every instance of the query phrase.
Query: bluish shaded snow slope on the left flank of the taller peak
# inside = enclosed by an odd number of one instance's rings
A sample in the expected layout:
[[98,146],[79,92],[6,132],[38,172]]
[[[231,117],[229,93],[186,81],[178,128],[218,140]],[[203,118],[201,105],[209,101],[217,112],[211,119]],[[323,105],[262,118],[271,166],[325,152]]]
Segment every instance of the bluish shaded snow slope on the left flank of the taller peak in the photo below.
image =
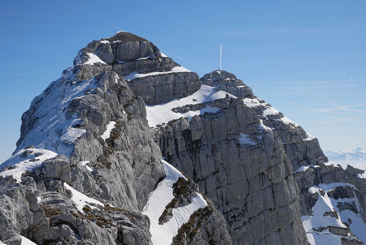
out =
[[51,150],[69,157],[75,140],[86,130],[78,128],[80,118],[76,114],[68,115],[67,108],[72,100],[82,98],[88,89],[95,88],[97,84],[95,77],[78,80],[77,83],[60,78],[51,83],[41,95],[33,99],[31,108],[36,107],[37,110],[32,118],[38,120],[18,149],[34,145],[35,148]]

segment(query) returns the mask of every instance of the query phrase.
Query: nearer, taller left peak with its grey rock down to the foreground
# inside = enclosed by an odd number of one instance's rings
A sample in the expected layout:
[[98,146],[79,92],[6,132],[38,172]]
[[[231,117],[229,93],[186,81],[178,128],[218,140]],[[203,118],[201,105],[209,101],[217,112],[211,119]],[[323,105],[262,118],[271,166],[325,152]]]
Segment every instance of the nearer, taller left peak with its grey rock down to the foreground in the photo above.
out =
[[[92,41],[79,51],[74,65],[22,116],[15,153],[33,145],[59,155],[24,172],[21,183],[12,176],[0,179],[1,241],[20,244],[23,235],[36,244],[152,245],[150,220],[141,209],[165,171],[144,100],[162,103],[200,85],[196,73],[173,67],[179,65],[131,33]],[[149,76],[124,78],[151,72],[169,73],[147,87],[143,79]],[[172,87],[160,94],[167,84]],[[27,151],[21,159],[39,161]],[[18,165],[2,171],[11,169],[22,171]],[[89,200],[82,210],[79,200]],[[223,216],[210,205],[212,212],[195,220],[197,233],[185,244],[231,244]]]

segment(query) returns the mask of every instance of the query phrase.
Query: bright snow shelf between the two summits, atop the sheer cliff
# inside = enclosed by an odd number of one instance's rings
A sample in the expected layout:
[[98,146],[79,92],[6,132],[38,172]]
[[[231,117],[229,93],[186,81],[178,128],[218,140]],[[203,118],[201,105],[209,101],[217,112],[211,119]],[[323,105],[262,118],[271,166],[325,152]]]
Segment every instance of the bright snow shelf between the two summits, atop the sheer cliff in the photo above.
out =
[[[150,127],[156,127],[159,124],[168,123],[169,121],[186,117],[189,120],[196,115],[202,115],[204,113],[217,113],[220,108],[206,106],[205,108],[197,111],[188,111],[186,113],[176,113],[172,109],[176,107],[182,107],[186,105],[195,105],[205,102],[210,102],[216,99],[225,98],[227,92],[216,91],[214,87],[202,85],[193,95],[185,98],[173,99],[170,102],[162,103],[158,105],[146,105],[146,118],[149,121]],[[230,95],[230,98],[236,98],[234,95]]]

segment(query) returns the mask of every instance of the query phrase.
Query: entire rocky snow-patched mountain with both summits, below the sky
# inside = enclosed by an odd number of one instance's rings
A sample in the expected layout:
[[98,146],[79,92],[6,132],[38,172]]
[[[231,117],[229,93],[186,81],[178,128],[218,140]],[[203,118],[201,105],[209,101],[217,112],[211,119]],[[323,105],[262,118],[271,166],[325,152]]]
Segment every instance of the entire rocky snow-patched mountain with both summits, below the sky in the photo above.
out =
[[3,244],[366,242],[363,170],[234,74],[199,78],[128,32],[33,99],[0,168]]

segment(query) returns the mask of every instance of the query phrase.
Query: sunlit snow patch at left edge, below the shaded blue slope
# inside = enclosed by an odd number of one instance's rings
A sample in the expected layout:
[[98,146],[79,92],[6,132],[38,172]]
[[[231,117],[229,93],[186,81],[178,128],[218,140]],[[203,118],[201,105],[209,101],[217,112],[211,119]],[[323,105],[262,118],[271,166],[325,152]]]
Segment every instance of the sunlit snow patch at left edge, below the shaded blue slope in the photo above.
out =
[[57,153],[45,149],[23,149],[18,151],[18,153],[11,156],[8,160],[0,164],[0,169],[8,166],[15,165],[14,167],[0,172],[1,176],[12,175],[13,178],[17,179],[20,182],[20,178],[22,177],[22,173],[24,172],[33,172],[34,168],[42,166],[42,162],[56,157]]

